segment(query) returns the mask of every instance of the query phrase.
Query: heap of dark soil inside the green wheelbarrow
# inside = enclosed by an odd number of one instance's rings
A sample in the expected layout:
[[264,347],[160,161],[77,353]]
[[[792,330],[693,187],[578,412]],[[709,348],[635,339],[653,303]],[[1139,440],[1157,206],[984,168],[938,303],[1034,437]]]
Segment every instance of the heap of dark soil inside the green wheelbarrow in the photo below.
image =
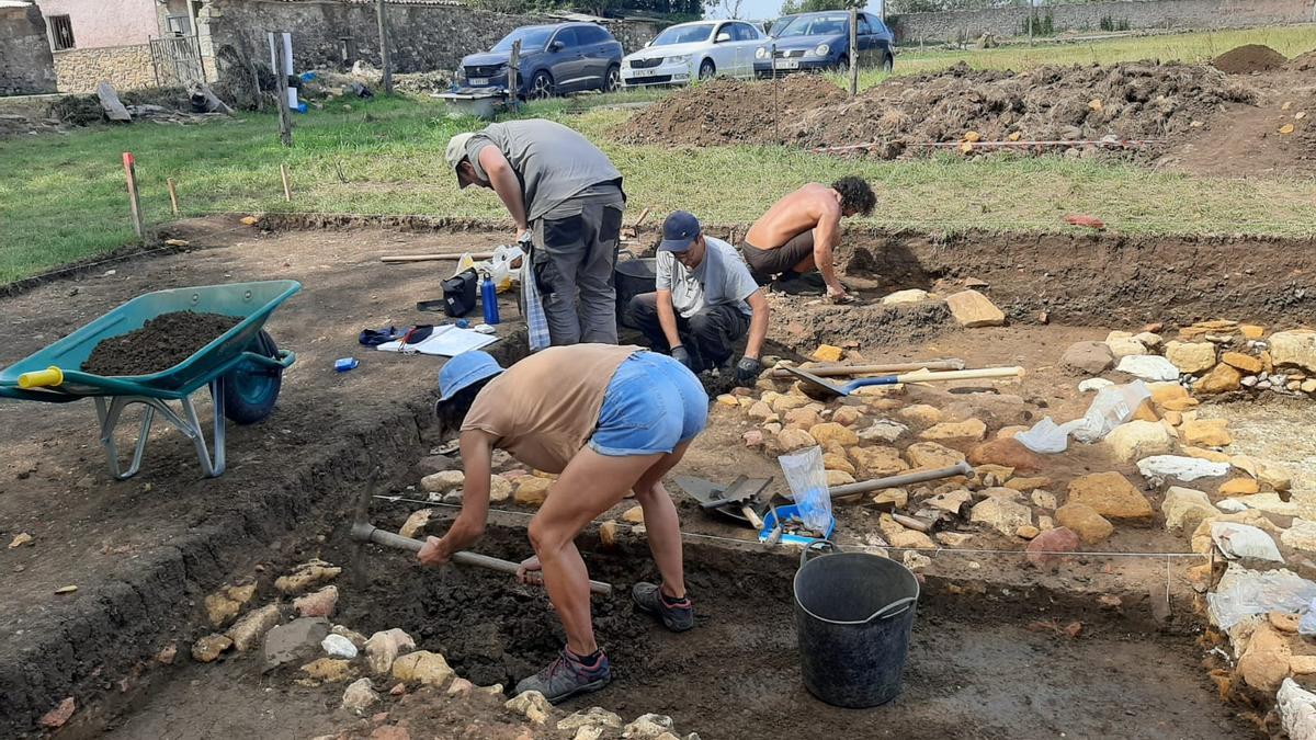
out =
[[150,375],[196,354],[242,319],[221,313],[175,311],[150,319],[141,329],[101,340],[83,371],[96,375]]

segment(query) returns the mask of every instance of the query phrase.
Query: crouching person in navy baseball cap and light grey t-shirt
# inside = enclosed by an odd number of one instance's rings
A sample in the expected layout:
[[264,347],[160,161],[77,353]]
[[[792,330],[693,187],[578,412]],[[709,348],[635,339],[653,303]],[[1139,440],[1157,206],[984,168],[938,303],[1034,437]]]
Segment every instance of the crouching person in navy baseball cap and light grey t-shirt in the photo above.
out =
[[732,245],[707,236],[692,213],[676,211],[662,225],[655,292],[630,299],[628,317],[649,345],[695,373],[726,365],[736,344],[745,353],[736,382],[753,386],[763,370],[767,299]]

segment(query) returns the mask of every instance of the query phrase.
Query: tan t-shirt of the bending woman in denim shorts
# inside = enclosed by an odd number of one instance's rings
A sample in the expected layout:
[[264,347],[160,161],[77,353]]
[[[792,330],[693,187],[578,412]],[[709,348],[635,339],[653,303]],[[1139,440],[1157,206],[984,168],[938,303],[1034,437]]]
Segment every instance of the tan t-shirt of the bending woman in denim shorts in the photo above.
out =
[[640,346],[554,346],[507,369],[475,396],[462,431],[488,432],[495,446],[547,473],[562,473],[599,425],[603,396]]

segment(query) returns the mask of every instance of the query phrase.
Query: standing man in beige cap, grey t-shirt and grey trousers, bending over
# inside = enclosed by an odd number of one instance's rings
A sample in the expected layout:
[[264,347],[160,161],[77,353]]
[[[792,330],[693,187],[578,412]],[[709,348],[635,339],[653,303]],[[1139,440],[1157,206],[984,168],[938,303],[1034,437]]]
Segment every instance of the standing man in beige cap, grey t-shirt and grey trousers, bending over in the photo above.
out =
[[459,133],[446,158],[459,187],[497,194],[529,245],[551,342],[617,344],[612,271],[626,196],[608,157],[567,126],[532,119]]

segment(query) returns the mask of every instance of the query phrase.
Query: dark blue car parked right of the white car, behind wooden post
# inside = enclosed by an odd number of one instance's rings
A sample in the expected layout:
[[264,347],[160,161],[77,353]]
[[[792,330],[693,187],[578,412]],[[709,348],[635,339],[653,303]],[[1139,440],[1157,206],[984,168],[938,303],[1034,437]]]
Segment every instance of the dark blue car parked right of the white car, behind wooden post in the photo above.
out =
[[[873,13],[859,13],[858,17],[859,67],[880,67],[890,72],[895,66],[891,30]],[[754,51],[754,75],[763,78],[801,70],[844,71],[850,67],[850,62],[849,11],[800,13],[772,24],[771,41]]]

